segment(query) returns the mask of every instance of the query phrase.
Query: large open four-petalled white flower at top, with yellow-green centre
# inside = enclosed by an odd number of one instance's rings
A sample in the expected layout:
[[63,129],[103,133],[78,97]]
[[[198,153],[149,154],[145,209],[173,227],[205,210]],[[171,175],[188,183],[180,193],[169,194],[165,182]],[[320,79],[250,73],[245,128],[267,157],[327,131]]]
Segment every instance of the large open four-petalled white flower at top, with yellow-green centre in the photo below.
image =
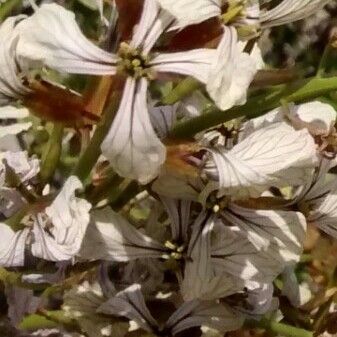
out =
[[[42,6],[18,26],[21,56],[69,73],[112,75],[122,71],[127,75],[123,97],[102,144],[102,153],[118,174],[141,183],[148,183],[158,175],[166,156],[147,108],[148,83],[157,73],[194,77],[206,84],[221,108],[244,103],[255,73],[254,62],[238,47],[235,30],[228,28],[224,28],[217,51],[196,49],[152,55],[151,49],[160,35],[174,22],[174,17],[163,11],[156,1],[146,0],[130,44],[122,43],[116,55],[88,41],[74,15],[55,4]],[[225,52],[227,56],[223,57]]]

